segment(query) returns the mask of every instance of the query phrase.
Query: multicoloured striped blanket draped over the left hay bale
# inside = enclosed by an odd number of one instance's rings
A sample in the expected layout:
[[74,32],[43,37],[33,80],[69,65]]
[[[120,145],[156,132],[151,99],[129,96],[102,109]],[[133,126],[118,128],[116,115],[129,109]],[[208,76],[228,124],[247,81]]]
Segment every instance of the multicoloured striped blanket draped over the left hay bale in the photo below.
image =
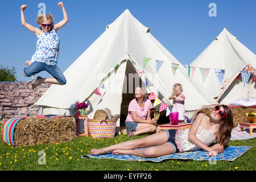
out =
[[[48,114],[48,115],[35,115],[32,117],[49,119],[49,118],[66,117],[66,115]],[[13,140],[14,128],[20,120],[25,118],[28,118],[28,117],[10,118],[10,119],[7,119],[5,123],[3,123],[3,127],[2,127],[3,142],[5,142],[6,144],[10,144],[11,146],[15,146],[14,140]]]

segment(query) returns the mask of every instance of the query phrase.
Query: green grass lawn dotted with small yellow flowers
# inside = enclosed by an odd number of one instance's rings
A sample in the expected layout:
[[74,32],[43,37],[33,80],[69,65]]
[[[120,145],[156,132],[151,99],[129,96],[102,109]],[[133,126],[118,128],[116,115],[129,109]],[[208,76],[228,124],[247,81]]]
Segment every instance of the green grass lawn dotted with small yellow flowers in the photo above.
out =
[[[1,129],[2,131],[2,129]],[[2,135],[2,134],[1,134]],[[93,139],[79,137],[71,142],[46,144],[38,146],[11,147],[0,143],[0,170],[108,170],[108,171],[176,171],[176,170],[226,170],[226,171],[255,171],[256,138],[250,140],[230,141],[229,146],[253,146],[243,156],[234,162],[217,161],[209,164],[208,161],[196,160],[164,160],[160,163],[129,162],[113,159],[81,159],[81,155],[89,154],[92,148],[110,146],[130,139],[126,135],[117,135],[115,138]],[[39,153],[43,151],[43,154]],[[38,155],[40,154],[40,155]],[[46,158],[46,164],[39,164],[38,160]]]

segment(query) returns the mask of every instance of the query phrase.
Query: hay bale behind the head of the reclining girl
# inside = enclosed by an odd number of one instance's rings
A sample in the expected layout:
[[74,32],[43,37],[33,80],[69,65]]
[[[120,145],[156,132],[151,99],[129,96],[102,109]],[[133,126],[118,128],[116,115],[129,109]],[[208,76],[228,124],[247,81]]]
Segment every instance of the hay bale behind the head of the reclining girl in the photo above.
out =
[[[256,112],[256,107],[230,107],[233,113],[233,128],[237,127],[240,122],[249,123],[246,119],[246,113]],[[210,113],[212,113],[213,108],[204,108],[201,109],[198,113],[204,113],[208,117],[210,117]],[[197,114],[198,114],[197,113]]]

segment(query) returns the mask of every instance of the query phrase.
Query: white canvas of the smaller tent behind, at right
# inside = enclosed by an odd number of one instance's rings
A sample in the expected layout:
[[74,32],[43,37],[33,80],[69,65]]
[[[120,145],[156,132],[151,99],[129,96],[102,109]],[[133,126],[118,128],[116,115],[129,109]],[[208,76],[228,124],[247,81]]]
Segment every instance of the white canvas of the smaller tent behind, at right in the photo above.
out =
[[225,69],[224,80],[228,80],[247,64],[255,68],[256,56],[224,28],[190,65],[210,68],[205,81],[202,80],[200,70],[197,68],[193,78],[201,82],[213,97],[218,97],[222,92],[222,86],[214,72],[215,69]]

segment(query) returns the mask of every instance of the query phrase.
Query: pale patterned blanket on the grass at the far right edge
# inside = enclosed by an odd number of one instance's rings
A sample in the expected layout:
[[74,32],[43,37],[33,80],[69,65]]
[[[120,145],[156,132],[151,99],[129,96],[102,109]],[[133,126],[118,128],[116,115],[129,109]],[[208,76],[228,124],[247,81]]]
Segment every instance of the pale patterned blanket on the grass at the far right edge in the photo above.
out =
[[238,125],[236,128],[232,129],[230,140],[246,140],[252,139],[256,137],[256,130],[253,130],[253,135],[250,135],[249,129],[240,130],[240,126]]

